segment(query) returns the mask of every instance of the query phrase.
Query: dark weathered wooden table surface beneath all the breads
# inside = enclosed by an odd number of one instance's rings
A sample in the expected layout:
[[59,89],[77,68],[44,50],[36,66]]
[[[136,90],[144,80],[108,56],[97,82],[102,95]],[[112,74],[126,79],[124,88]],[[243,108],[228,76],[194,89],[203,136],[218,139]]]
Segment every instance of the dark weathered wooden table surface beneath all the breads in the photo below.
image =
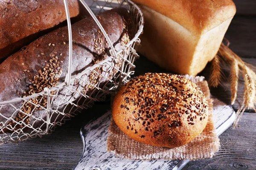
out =
[[[225,35],[230,40],[230,48],[243,57],[244,61],[256,65],[256,1],[234,0],[237,14]],[[165,72],[144,57],[135,64],[136,75],[145,72]],[[209,67],[200,73],[209,77]],[[224,68],[228,73],[229,69]],[[243,83],[239,83],[239,97]],[[211,93],[221,101],[230,104],[230,86],[224,83],[219,88],[211,88]],[[235,111],[239,102],[233,105]],[[17,144],[0,145],[0,170],[70,170],[78,162],[83,144],[80,128],[93,118],[110,109],[110,102],[96,103],[93,108],[82,111],[78,116],[58,127],[54,133],[42,139],[31,139]],[[230,127],[220,136],[221,147],[212,159],[190,161],[184,170],[256,170],[256,113],[247,110],[238,128]]]

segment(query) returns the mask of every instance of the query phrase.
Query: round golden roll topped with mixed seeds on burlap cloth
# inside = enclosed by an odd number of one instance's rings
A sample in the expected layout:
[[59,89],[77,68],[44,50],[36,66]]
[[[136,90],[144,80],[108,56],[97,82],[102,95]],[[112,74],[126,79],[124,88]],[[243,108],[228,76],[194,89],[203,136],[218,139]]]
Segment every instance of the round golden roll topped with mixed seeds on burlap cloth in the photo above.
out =
[[192,81],[147,73],[126,83],[113,100],[116,125],[132,139],[158,147],[179,147],[207,125],[208,103]]

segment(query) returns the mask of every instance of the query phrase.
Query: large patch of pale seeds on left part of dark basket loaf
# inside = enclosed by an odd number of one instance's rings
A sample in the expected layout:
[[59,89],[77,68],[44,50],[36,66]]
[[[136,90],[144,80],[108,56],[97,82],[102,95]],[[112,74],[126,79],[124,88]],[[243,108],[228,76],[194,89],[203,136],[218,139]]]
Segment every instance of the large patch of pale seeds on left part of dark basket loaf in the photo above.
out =
[[[55,53],[56,54],[56,53]],[[63,63],[63,61],[59,61],[58,57],[55,57],[55,54],[52,54],[52,59],[49,59],[49,61],[45,61],[44,68],[38,71],[38,73],[33,77],[33,79],[29,79],[29,81],[32,83],[29,85],[29,90],[24,91],[25,94],[23,97],[40,93],[44,91],[44,88],[51,88],[58,85],[59,77],[62,74],[62,68],[60,67],[60,64]],[[28,72],[29,70],[23,70],[24,73]],[[55,91],[51,91],[51,94],[54,95]],[[34,105],[33,105],[33,104]],[[38,96],[32,99],[29,99],[29,102],[22,102],[23,107],[20,109],[16,116],[14,117],[16,122],[23,121],[27,125],[30,122],[30,116],[27,116],[26,114],[31,114],[33,111],[36,110],[42,110],[42,108],[47,107],[47,97],[44,96]],[[35,105],[41,105],[41,107],[36,107]],[[26,114],[24,114],[24,113]],[[9,125],[14,127],[15,130],[23,127],[23,125],[20,125],[19,127],[16,125],[14,121],[8,122]],[[16,126],[15,126],[16,125]]]

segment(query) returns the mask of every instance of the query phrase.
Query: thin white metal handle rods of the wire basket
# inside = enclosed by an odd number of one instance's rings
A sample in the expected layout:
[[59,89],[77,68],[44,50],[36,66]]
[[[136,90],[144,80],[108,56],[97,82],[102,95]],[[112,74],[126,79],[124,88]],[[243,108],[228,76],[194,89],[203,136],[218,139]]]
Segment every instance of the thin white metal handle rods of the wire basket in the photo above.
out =
[[[87,9],[89,14],[93,17],[93,20],[96,22],[96,24],[99,26],[100,30],[102,31],[103,35],[105,38],[108,40],[108,44],[110,45],[111,51],[110,53],[113,53],[115,58],[117,58],[116,50],[108,37],[108,34],[102,27],[102,25],[99,23],[99,20],[96,18],[96,16],[93,14],[93,11],[87,6],[87,4],[84,2],[84,0],[80,0],[80,2],[83,4],[83,6]],[[68,62],[68,72],[65,78],[65,83],[67,86],[70,85],[70,80],[71,80],[71,69],[72,69],[72,53],[73,53],[73,47],[72,47],[72,31],[71,31],[71,23],[70,23],[70,14],[68,10],[68,5],[67,5],[67,0],[64,0],[64,6],[65,6],[65,11],[67,15],[67,28],[68,28],[68,38],[69,38],[69,62]]]

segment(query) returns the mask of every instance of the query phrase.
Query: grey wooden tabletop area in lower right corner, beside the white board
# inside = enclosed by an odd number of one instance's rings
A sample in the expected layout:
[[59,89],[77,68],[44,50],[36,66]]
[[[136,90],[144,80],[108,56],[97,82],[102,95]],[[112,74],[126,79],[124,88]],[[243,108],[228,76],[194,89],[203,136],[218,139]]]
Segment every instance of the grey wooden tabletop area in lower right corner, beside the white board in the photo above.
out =
[[184,170],[256,169],[255,113],[244,113],[240,127],[230,127],[220,136],[221,148],[212,159],[190,161]]

